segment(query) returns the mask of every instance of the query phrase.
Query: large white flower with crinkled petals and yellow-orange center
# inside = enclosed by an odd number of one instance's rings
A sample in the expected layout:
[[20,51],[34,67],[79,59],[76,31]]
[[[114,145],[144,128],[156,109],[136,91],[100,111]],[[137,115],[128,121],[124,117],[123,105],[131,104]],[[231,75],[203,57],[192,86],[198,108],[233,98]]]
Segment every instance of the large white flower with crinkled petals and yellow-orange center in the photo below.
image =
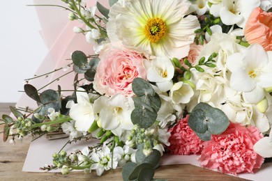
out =
[[199,22],[186,0],[119,0],[109,12],[107,33],[112,43],[182,58],[188,55]]

